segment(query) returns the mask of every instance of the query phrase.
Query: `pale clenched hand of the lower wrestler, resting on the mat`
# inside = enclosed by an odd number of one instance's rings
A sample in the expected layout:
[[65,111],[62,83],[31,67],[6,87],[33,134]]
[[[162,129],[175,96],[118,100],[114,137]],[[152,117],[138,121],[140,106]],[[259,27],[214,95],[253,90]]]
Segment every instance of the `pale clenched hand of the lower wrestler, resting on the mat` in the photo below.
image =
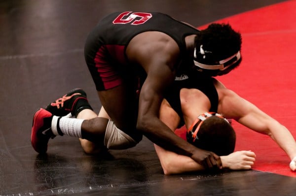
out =
[[256,155],[252,151],[236,151],[227,156],[221,156],[223,168],[232,170],[251,169]]

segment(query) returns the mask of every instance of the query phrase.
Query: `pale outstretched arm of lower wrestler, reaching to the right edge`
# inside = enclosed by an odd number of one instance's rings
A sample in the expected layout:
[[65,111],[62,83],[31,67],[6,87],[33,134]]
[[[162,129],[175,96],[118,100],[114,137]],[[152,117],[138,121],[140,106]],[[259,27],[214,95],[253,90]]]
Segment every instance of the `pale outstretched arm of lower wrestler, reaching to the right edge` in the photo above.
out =
[[296,157],[296,141],[291,132],[278,121],[261,111],[251,102],[217,83],[219,94],[218,112],[225,118],[233,118],[240,124],[269,135],[293,160]]

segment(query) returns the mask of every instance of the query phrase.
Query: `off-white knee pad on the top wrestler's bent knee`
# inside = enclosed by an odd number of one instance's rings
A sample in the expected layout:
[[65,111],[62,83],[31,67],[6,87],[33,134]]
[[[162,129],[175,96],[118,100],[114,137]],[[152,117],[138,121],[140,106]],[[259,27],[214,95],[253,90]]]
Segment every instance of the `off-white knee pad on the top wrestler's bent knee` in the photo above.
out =
[[134,147],[137,143],[128,134],[119,130],[113,121],[109,120],[104,139],[104,144],[108,149],[123,150]]

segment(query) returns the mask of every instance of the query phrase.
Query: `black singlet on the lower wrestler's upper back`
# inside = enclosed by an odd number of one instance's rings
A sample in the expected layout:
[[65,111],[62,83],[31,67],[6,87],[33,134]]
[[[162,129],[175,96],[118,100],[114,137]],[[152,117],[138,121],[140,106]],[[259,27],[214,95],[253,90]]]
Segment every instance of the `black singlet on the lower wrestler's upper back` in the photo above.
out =
[[212,77],[203,77],[194,73],[194,77],[190,72],[179,74],[176,76],[173,85],[166,91],[164,98],[170,103],[171,107],[178,113],[181,118],[179,128],[182,127],[185,122],[183,119],[183,113],[181,109],[180,91],[182,88],[198,89],[204,93],[211,102],[210,112],[216,112],[218,110],[218,93],[214,86]]

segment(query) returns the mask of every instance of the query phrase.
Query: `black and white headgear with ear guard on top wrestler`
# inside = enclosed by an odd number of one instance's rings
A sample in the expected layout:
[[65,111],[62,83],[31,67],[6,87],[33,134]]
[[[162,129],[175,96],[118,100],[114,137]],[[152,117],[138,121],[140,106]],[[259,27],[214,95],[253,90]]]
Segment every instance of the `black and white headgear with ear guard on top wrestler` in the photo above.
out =
[[225,70],[231,65],[234,65],[241,59],[240,51],[231,55],[230,57],[215,61],[214,55],[211,51],[206,51],[203,49],[203,45],[200,45],[199,50],[194,47],[194,65],[203,69],[208,70]]

